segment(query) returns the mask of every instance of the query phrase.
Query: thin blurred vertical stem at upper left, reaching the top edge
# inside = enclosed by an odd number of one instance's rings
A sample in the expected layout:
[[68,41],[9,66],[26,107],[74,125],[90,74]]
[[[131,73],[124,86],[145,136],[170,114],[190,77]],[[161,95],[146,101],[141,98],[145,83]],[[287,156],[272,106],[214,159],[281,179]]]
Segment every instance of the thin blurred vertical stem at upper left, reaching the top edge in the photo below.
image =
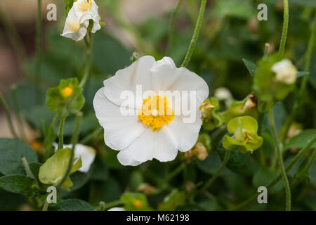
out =
[[37,67],[35,74],[35,86],[36,86],[36,96],[37,96],[37,104],[41,103],[41,0],[37,0]]

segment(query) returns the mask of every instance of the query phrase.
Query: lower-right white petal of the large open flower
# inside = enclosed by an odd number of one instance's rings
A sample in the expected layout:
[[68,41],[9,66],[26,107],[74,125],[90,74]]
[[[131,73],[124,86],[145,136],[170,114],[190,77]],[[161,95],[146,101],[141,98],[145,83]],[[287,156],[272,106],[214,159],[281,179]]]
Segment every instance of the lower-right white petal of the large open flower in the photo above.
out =
[[178,150],[186,152],[195,145],[199,137],[199,129],[202,125],[201,112],[197,110],[197,120],[192,123],[184,123],[183,119],[175,116],[168,127],[178,143]]

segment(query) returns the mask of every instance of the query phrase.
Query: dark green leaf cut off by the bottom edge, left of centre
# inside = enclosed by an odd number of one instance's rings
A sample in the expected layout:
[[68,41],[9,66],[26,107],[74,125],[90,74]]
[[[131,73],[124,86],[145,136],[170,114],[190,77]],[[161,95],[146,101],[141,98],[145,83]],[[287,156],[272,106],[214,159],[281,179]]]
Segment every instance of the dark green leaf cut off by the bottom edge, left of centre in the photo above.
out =
[[89,203],[80,199],[68,199],[49,207],[51,211],[96,211]]

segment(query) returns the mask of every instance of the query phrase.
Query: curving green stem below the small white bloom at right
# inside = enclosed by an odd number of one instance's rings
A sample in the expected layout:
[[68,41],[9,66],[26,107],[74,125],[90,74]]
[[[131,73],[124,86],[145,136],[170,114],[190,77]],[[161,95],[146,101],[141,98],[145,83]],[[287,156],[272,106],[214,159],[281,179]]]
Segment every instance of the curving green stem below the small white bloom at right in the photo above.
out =
[[282,149],[280,148],[279,141],[277,139],[277,131],[275,129],[275,119],[273,117],[272,106],[270,107],[270,112],[269,112],[269,123],[270,123],[271,132],[273,136],[273,141],[275,142],[275,151],[277,152],[279,166],[281,167],[282,179],[285,186],[285,194],[286,194],[286,200],[287,200],[285,209],[287,211],[290,211],[291,210],[291,189],[289,186],[289,180],[287,179],[287,172],[285,171],[285,168],[284,168],[284,163],[283,163],[283,158],[282,158]]

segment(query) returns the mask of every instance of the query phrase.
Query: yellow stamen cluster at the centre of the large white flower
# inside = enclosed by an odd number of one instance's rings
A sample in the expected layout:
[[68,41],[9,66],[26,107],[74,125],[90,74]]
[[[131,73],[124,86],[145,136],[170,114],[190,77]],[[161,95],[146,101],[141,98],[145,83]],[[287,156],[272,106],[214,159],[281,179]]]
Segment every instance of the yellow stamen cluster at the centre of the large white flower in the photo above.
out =
[[152,96],[144,99],[142,110],[138,112],[138,119],[158,131],[164,124],[169,124],[174,118],[173,110],[166,97]]

